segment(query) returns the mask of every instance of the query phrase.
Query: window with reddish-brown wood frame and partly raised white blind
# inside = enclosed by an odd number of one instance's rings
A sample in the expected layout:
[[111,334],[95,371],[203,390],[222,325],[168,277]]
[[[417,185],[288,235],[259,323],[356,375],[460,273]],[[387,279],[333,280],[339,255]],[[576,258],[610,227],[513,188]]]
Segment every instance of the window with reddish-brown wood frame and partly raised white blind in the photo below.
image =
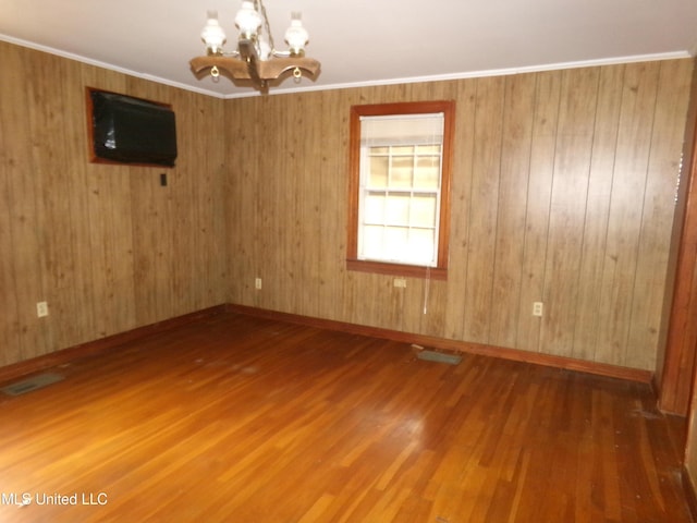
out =
[[454,107],[352,107],[350,269],[447,277]]

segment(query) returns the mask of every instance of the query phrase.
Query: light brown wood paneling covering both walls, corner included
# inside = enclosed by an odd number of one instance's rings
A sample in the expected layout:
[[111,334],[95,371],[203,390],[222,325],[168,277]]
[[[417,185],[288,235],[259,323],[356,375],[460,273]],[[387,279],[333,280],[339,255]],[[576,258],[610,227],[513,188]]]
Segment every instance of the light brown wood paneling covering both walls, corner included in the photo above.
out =
[[[234,100],[0,60],[0,365],[235,303],[656,368],[692,60]],[[89,163],[85,86],[171,104],[178,167]],[[345,269],[348,109],[428,99],[457,102],[450,275],[400,289]]]

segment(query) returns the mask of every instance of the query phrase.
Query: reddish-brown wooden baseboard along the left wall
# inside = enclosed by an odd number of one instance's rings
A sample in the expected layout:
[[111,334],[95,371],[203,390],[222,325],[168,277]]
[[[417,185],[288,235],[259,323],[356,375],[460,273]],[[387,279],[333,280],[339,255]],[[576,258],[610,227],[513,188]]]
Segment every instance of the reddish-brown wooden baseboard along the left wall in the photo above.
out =
[[184,314],[175,318],[166,319],[156,324],[138,327],[118,335],[108,336],[98,340],[88,341],[80,345],[74,345],[60,351],[44,354],[23,362],[13,363],[4,367],[0,367],[0,381],[9,381],[11,379],[36,373],[45,368],[54,367],[69,363],[78,357],[91,356],[100,354],[129,341],[137,340],[146,336],[156,335],[166,330],[180,327],[182,325],[199,321],[217,314],[225,312],[225,305],[205,308],[195,313]]

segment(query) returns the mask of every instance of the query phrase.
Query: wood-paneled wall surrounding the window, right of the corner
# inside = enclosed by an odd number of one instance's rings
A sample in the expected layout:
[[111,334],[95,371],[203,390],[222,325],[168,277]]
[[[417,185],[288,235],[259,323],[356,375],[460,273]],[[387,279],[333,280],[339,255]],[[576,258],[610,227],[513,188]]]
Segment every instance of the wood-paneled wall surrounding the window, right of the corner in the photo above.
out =
[[[692,69],[229,100],[230,302],[655,370]],[[450,273],[400,289],[345,269],[348,110],[427,99],[457,102]]]

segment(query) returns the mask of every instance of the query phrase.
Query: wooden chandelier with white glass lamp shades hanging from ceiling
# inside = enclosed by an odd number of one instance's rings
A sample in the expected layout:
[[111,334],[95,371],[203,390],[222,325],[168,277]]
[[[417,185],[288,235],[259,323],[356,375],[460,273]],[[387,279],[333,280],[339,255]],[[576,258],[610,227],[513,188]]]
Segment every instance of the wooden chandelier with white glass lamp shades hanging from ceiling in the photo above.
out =
[[196,57],[189,62],[197,77],[209,71],[213,81],[223,74],[233,82],[250,81],[261,93],[268,93],[269,82],[280,83],[289,73],[295,82],[301,81],[303,73],[317,76],[319,62],[305,57],[308,34],[299,13],[292,13],[291,26],[285,32],[288,51],[276,49],[261,0],[243,1],[235,16],[235,25],[240,29],[237,49],[225,52],[222,48],[225,33],[218,22],[218,13],[208,12],[208,23],[200,34],[206,42],[206,56]]

